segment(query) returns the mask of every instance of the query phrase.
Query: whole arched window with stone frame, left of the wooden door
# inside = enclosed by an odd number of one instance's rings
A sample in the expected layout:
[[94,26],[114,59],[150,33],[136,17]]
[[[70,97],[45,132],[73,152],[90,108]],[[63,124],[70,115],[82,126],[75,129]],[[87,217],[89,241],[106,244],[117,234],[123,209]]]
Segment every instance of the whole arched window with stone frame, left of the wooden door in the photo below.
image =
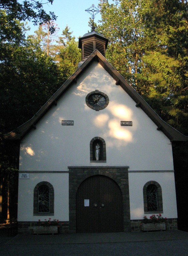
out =
[[54,189],[47,182],[42,181],[34,188],[34,215],[53,215],[54,214]]

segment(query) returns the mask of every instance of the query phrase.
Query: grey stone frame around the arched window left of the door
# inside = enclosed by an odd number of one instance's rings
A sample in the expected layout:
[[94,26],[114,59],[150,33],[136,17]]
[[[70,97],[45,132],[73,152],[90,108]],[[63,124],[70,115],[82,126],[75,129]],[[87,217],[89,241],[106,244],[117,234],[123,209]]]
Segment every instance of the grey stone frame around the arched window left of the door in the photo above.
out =
[[[50,189],[50,212],[38,212],[38,189],[41,186],[47,186]],[[54,215],[54,188],[48,181],[39,182],[34,188],[33,194],[33,215],[34,216],[53,216]]]

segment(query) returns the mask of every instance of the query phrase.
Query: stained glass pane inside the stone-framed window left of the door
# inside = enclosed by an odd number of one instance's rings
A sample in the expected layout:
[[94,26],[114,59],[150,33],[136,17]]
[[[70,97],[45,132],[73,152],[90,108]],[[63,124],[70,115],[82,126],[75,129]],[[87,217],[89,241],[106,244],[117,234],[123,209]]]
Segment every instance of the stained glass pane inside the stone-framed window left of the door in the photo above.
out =
[[38,212],[50,212],[50,189],[46,185],[38,188]]

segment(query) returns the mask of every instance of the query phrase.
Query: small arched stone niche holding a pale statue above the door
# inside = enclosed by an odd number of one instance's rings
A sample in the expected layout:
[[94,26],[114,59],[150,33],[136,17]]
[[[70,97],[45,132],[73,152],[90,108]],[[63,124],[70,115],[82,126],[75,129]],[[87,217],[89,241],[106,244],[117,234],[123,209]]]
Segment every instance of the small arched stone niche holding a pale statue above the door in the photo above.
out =
[[90,141],[90,162],[106,162],[106,143],[101,137]]

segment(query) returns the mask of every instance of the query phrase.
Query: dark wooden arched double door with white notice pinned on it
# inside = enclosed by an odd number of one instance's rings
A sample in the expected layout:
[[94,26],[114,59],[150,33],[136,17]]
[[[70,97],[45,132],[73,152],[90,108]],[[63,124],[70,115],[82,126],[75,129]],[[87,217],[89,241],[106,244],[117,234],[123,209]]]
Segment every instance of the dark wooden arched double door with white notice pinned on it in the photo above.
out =
[[103,175],[84,180],[76,193],[76,232],[122,231],[122,196],[117,183]]

